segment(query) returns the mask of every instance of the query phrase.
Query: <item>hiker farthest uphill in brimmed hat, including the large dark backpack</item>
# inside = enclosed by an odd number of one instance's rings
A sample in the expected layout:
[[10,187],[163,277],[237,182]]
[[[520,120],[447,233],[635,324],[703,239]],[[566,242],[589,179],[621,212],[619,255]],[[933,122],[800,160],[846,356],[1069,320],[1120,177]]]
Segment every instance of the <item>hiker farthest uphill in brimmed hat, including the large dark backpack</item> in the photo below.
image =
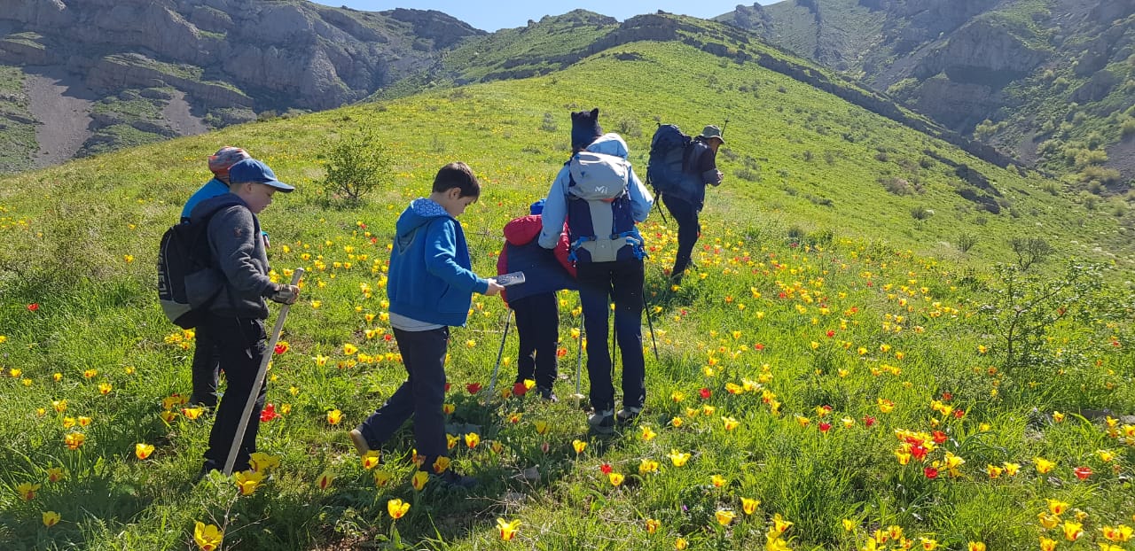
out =
[[[729,119],[725,119],[729,125]],[[682,282],[689,268],[693,245],[701,236],[698,213],[705,205],[706,186],[721,185],[724,175],[717,170],[717,149],[725,144],[724,129],[706,126],[701,135],[690,138],[674,125],[662,125],[650,139],[647,184],[666,205],[678,222],[678,253],[670,280]]]

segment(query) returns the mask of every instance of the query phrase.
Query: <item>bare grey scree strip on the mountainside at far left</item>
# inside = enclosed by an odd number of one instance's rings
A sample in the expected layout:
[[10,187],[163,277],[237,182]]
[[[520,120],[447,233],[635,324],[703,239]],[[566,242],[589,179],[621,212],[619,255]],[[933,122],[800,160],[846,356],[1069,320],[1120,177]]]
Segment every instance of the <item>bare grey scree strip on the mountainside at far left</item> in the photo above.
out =
[[40,150],[33,164],[50,167],[70,160],[91,137],[91,104],[98,96],[79,77],[62,70],[25,71],[28,111],[39,121],[35,142]]

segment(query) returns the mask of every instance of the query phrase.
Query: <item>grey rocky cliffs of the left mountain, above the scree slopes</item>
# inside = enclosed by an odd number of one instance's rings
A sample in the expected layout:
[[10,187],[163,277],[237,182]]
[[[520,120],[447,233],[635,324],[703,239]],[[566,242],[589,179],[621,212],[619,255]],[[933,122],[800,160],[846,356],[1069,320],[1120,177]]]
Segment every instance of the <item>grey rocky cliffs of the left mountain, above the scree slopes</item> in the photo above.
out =
[[[173,91],[211,126],[335,108],[479,34],[438,11],[363,12],[303,0],[0,0],[0,63],[62,70],[103,96],[102,111],[120,111],[115,120],[160,113]],[[120,100],[129,91],[153,109],[134,95]],[[95,117],[93,134],[106,129],[103,120]],[[133,126],[148,124],[163,126]],[[85,152],[112,147],[115,138],[95,142]]]

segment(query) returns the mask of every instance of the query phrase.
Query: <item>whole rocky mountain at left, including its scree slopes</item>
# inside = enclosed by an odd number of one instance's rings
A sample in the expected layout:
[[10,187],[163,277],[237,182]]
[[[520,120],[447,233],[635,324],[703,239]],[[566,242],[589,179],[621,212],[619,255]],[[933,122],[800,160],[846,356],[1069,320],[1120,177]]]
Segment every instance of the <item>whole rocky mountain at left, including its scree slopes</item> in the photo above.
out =
[[301,0],[0,0],[0,170],[335,108],[481,34]]

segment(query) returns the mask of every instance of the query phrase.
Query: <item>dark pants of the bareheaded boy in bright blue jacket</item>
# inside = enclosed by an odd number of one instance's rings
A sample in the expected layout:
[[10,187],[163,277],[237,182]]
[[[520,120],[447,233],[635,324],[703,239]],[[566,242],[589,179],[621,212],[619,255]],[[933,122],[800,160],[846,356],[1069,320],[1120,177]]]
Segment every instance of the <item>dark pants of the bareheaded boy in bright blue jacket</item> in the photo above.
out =
[[447,456],[445,440],[445,353],[449,328],[430,331],[394,330],[394,339],[406,367],[406,382],[395,390],[382,407],[359,425],[371,449],[378,449],[402,424],[414,417],[414,442],[426,457],[422,469],[431,469],[438,456]]

